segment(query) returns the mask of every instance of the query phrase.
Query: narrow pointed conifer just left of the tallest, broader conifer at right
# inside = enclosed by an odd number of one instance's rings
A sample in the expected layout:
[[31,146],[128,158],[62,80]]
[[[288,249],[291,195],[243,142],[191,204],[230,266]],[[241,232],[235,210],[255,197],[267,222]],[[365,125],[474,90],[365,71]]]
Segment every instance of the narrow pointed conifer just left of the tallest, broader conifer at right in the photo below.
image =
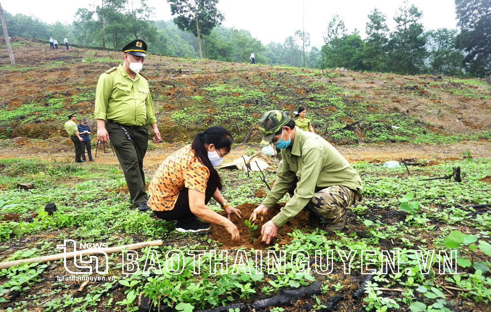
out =
[[385,59],[387,33],[389,28],[385,23],[385,15],[377,8],[368,14],[368,23],[365,28],[367,38],[365,41],[365,53],[363,63],[370,70],[379,71]]

